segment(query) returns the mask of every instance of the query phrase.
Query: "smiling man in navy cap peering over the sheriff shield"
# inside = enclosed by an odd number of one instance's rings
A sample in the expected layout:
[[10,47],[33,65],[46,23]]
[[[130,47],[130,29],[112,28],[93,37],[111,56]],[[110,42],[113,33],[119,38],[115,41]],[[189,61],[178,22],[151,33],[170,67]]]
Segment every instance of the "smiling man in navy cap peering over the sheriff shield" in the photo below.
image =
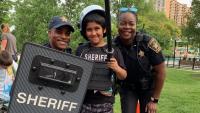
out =
[[49,22],[48,29],[49,43],[44,46],[71,54],[69,42],[70,35],[74,32],[71,23],[64,16],[54,16]]

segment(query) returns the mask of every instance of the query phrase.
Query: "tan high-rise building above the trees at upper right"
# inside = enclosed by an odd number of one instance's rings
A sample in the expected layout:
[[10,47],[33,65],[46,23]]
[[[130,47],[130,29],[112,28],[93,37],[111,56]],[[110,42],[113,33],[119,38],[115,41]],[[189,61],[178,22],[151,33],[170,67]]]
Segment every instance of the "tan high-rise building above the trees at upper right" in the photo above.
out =
[[191,10],[186,4],[181,4],[177,0],[156,0],[156,11],[163,11],[167,18],[173,20],[178,26],[187,23],[187,17]]

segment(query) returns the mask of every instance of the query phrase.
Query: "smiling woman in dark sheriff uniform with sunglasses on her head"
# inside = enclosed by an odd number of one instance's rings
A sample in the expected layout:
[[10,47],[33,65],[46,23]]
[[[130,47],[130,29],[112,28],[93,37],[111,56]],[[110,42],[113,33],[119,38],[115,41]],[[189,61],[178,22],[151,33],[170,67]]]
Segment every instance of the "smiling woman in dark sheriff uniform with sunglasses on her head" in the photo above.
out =
[[136,12],[135,7],[119,9],[115,44],[127,68],[127,78],[121,81],[121,108],[122,113],[135,113],[139,100],[141,113],[155,113],[165,80],[164,56],[155,38],[136,32]]

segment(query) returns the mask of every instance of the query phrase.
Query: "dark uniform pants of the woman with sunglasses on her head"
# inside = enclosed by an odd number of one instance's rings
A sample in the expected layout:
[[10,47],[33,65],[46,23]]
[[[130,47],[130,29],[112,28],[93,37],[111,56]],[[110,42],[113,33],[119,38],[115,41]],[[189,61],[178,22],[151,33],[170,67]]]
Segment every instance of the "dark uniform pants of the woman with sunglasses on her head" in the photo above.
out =
[[140,102],[140,113],[146,113],[145,107],[150,101],[152,91],[139,91],[130,88],[120,90],[122,113],[136,113],[138,100]]

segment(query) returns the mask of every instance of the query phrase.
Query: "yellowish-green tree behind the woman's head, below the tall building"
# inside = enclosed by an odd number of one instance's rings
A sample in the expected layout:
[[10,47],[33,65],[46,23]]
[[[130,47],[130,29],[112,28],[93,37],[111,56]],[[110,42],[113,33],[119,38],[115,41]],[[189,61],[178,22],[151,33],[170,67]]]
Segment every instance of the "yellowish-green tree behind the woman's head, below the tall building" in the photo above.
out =
[[137,30],[143,29],[144,32],[156,38],[163,49],[170,48],[171,38],[180,36],[180,28],[167,19],[163,12],[154,10],[154,0],[121,0],[121,2],[115,2],[114,6],[115,10],[119,7],[135,6],[138,9]]

